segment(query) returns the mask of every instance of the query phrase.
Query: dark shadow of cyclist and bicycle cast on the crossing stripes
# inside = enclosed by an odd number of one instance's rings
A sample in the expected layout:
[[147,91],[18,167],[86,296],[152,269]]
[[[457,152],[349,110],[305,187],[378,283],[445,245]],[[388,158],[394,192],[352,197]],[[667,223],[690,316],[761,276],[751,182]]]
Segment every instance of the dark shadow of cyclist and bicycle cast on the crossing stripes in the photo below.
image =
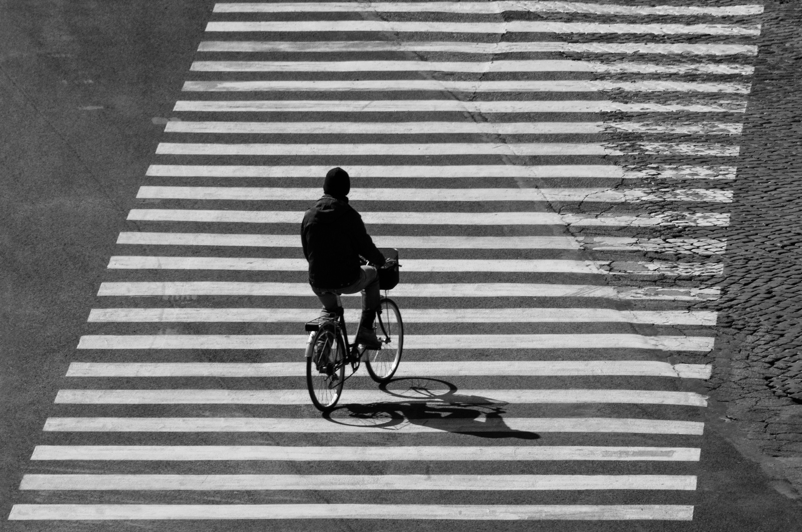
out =
[[535,440],[537,433],[510,427],[502,414],[508,403],[491,397],[460,393],[456,385],[439,379],[403,377],[379,386],[387,401],[339,405],[324,417],[334,423],[407,431],[411,425],[484,438]]

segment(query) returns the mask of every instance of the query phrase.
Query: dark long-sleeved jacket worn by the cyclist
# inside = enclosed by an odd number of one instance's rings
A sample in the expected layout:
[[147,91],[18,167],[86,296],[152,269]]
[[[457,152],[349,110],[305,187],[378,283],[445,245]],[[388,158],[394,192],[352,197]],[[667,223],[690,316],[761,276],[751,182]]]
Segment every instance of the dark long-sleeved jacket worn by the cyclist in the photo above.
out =
[[359,256],[382,266],[384,256],[367,234],[362,216],[348,199],[324,195],[304,214],[303,254],[314,288],[345,288],[359,279]]

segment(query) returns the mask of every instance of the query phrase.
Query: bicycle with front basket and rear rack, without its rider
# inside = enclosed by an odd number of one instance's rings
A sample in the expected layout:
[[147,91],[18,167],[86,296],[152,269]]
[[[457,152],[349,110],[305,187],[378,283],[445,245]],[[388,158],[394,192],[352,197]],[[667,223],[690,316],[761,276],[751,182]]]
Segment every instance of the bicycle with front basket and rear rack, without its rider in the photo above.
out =
[[[397,262],[395,268],[398,268]],[[374,322],[376,336],[383,344],[381,349],[366,349],[364,346],[350,344],[346,329],[345,309],[337,296],[337,311],[334,316],[312,320],[305,325],[309,332],[306,342],[306,387],[312,404],[321,412],[330,412],[342,396],[345,381],[357,372],[364,361],[367,373],[376,382],[385,383],[395,375],[403,353],[403,321],[398,304],[387,297],[387,289],[381,284],[382,270],[379,270],[379,287],[385,289],[385,296],[379,300]],[[398,270],[395,269],[395,283]],[[386,285],[387,286],[387,285]],[[345,376],[346,366],[351,373]]]

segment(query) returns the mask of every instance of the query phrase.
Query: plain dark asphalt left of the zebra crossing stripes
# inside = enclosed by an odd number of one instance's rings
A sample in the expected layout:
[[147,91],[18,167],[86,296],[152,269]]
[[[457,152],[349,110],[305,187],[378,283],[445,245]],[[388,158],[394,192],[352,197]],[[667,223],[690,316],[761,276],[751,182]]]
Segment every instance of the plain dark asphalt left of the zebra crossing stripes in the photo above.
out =
[[3,530],[212,5],[0,7]]

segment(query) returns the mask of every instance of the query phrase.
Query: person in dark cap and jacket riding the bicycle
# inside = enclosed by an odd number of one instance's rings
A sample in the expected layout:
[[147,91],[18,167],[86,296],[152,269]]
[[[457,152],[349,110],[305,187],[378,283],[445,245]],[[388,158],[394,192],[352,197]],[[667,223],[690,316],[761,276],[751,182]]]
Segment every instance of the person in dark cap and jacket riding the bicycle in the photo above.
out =
[[[380,349],[373,323],[379,307],[379,272],[382,252],[373,244],[362,216],[348,204],[350,177],[340,167],[323,180],[323,196],[306,211],[301,244],[309,263],[309,284],[326,314],[337,312],[337,296],[362,292],[362,319],[355,344]],[[363,265],[360,257],[371,265]]]

